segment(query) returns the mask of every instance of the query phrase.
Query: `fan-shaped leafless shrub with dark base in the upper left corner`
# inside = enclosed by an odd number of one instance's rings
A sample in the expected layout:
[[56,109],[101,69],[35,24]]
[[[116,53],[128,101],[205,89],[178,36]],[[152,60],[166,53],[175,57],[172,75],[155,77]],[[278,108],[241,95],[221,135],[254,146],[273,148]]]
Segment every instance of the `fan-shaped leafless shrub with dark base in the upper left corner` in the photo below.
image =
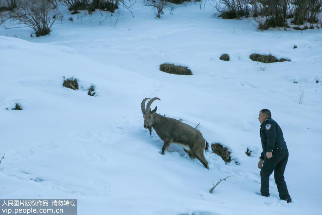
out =
[[16,4],[7,18],[33,28],[37,37],[49,34],[60,14],[47,0],[16,0]]

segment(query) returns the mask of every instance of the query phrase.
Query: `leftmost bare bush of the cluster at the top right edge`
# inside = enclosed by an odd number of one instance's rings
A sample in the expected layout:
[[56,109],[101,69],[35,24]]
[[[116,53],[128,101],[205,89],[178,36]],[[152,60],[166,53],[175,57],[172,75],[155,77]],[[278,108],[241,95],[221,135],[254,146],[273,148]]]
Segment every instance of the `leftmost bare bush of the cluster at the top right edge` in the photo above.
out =
[[219,17],[224,19],[234,19],[249,15],[248,0],[219,0],[216,2],[215,9]]

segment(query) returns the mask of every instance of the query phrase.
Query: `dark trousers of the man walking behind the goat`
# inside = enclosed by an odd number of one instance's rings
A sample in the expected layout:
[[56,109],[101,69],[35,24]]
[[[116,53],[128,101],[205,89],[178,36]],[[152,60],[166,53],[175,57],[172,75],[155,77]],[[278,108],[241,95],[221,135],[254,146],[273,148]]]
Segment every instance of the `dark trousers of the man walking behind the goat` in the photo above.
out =
[[284,180],[284,171],[289,159],[289,151],[274,150],[272,155],[273,157],[268,159],[265,154],[263,167],[260,170],[260,194],[262,196],[270,195],[270,175],[274,171],[274,179],[277,190],[279,191],[279,198],[281,200],[289,199],[289,191]]

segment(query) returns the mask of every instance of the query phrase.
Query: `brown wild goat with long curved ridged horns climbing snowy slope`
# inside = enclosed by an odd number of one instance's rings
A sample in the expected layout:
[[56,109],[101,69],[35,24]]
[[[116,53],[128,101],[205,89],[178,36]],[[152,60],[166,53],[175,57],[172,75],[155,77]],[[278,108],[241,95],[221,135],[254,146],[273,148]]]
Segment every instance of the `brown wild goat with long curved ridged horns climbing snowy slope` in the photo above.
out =
[[[150,101],[147,103],[147,108],[145,108],[147,100]],[[151,104],[155,100],[160,99],[156,97],[153,99],[143,99],[141,109],[144,118],[144,128],[149,129],[150,135],[153,128],[161,140],[164,141],[161,154],[164,154],[173,142],[182,146],[191,159],[197,158],[209,170],[208,162],[204,157],[204,151],[208,151],[209,144],[201,132],[188,124],[157,114],[156,108],[151,111]]]

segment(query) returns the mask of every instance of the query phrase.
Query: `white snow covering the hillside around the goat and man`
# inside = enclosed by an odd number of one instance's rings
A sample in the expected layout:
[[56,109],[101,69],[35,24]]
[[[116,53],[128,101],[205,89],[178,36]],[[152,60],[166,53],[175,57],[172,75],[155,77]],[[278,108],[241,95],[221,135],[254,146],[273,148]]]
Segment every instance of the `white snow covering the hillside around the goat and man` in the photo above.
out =
[[[115,27],[109,18],[99,24],[99,12],[65,10],[47,36],[0,28],[0,198],[76,198],[79,215],[321,214],[322,30],[259,32],[193,3],[158,20],[142,5]],[[219,60],[223,53],[231,60]],[[257,64],[252,53],[291,62]],[[162,63],[193,75],[163,73]],[[82,90],[62,87],[62,76],[79,79]],[[91,84],[96,97],[87,95]],[[234,160],[208,153],[207,170],[173,144],[161,155],[163,142],[144,129],[140,109],[155,96],[158,113],[200,123],[205,139],[228,147]],[[23,110],[6,110],[15,103]],[[273,176],[271,196],[256,194],[263,108],[289,148],[291,204],[279,200]]]

